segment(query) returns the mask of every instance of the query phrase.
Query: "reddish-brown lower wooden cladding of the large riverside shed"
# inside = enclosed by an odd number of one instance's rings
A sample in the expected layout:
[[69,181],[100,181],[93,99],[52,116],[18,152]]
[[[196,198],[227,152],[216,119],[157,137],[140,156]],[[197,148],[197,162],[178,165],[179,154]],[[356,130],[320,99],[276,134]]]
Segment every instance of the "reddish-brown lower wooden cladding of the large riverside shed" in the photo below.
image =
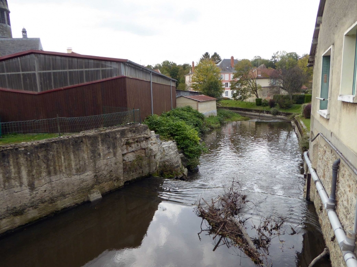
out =
[[[175,108],[175,86],[171,93]],[[153,102],[155,114],[169,111],[170,86],[153,83]],[[144,120],[151,114],[150,82],[122,77],[37,95],[0,90],[1,122],[98,115],[103,106],[140,108]]]

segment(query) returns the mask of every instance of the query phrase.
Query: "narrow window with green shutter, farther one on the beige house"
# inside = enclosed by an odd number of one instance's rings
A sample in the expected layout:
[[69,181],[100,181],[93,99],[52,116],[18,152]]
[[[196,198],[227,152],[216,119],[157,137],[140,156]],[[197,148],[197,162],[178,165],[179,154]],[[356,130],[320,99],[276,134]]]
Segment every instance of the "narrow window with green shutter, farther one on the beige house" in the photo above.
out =
[[321,58],[321,80],[320,80],[320,94],[319,94],[319,110],[317,111],[325,119],[330,118],[330,105],[331,98],[331,73],[333,61],[333,46],[322,54]]

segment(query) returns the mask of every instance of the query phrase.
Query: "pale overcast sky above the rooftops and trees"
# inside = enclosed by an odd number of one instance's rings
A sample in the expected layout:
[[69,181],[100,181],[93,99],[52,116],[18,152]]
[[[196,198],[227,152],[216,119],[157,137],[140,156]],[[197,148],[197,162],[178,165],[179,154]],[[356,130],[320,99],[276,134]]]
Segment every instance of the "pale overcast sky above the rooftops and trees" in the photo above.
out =
[[46,51],[129,59],[142,65],[310,52],[319,0],[8,0],[12,34]]

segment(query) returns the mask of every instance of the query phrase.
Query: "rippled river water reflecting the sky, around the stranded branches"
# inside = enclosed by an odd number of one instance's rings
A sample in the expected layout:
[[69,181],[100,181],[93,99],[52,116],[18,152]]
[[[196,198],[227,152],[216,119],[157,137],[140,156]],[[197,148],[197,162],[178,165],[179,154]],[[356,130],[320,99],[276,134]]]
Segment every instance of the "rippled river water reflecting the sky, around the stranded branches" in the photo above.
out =
[[[290,123],[227,123],[205,137],[208,152],[190,180],[147,178],[0,237],[1,267],[254,266],[236,247],[201,229],[195,204],[222,194],[233,179],[253,204],[250,225],[287,218],[269,247],[273,266],[307,267],[324,242],[313,205],[303,199],[303,161]],[[291,227],[296,231],[293,234]],[[201,233],[200,233],[201,232]],[[328,260],[320,267],[331,267]]]

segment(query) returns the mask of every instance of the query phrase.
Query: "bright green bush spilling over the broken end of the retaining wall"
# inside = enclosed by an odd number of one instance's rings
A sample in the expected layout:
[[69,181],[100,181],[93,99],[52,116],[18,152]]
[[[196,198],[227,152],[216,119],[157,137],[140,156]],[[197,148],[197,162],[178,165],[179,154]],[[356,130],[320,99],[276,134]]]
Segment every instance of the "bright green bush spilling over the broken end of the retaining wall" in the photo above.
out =
[[164,138],[172,138],[188,159],[199,158],[204,151],[198,132],[175,116],[149,116],[144,124]]

